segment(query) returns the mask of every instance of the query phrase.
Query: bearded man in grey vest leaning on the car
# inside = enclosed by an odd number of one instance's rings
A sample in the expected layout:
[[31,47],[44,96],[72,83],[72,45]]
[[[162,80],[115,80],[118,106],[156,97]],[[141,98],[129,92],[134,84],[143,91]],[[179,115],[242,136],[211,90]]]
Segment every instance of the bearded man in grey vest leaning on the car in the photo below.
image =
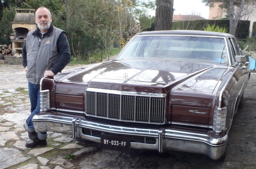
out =
[[35,12],[38,28],[27,34],[22,48],[22,62],[28,80],[31,114],[24,123],[31,141],[28,148],[45,146],[47,133],[37,133],[32,117],[40,112],[40,80],[61,72],[70,61],[70,48],[65,32],[52,25],[50,10],[40,7]]

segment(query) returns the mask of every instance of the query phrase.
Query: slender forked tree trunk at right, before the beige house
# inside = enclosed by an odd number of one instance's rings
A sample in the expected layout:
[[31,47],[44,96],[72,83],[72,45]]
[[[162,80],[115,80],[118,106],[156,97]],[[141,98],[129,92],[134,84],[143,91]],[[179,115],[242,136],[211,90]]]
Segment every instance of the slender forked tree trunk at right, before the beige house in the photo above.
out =
[[239,17],[241,16],[241,13],[244,9],[244,0],[241,0],[241,4],[238,8],[238,10],[235,13],[235,7],[234,7],[235,0],[230,0],[229,2],[229,11],[230,11],[230,17],[229,17],[229,33],[231,35],[235,36],[236,28],[238,25]]

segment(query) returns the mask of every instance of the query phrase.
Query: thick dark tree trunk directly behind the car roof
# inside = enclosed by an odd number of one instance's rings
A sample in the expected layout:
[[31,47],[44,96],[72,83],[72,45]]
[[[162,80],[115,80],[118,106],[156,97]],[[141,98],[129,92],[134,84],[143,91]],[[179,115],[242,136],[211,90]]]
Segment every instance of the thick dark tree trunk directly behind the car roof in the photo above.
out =
[[174,0],[156,0],[155,30],[171,30]]

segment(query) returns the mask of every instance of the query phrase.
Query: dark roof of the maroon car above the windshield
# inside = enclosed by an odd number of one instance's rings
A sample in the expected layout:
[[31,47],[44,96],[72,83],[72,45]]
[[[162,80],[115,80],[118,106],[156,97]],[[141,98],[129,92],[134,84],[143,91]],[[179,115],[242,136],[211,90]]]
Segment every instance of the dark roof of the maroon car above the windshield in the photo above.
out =
[[199,31],[199,30],[148,31],[148,32],[140,32],[140,33],[137,33],[136,35],[196,35],[196,36],[220,36],[220,37],[233,36],[231,34],[222,33],[222,32]]

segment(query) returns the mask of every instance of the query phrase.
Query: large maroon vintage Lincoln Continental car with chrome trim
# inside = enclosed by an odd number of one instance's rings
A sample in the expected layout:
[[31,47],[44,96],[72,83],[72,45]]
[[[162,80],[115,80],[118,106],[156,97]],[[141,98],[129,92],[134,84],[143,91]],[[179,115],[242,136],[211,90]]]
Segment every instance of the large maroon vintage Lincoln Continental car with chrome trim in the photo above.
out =
[[221,161],[248,79],[248,57],[230,34],[141,32],[113,61],[44,77],[34,127],[107,149]]

